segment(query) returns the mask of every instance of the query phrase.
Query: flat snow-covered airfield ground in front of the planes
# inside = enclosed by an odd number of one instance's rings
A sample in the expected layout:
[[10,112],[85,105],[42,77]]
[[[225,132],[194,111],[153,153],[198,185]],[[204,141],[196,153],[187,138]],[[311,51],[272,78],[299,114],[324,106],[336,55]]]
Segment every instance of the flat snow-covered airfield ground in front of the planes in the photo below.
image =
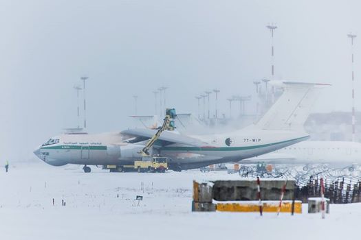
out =
[[[358,239],[361,204],[321,215],[192,213],[192,181],[226,172],[109,173],[19,163],[0,172],[0,239]],[[144,187],[142,187],[144,186]],[[138,204],[136,195],[142,195]],[[55,206],[52,199],[55,200]],[[66,206],[61,201],[65,200]]]

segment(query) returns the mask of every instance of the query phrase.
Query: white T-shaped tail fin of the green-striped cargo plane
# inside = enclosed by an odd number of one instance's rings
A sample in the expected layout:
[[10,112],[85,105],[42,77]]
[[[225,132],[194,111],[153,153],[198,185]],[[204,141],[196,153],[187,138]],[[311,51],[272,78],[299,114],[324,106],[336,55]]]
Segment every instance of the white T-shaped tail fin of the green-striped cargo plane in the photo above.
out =
[[320,88],[329,84],[270,82],[283,88],[283,94],[255,124],[264,130],[303,130]]

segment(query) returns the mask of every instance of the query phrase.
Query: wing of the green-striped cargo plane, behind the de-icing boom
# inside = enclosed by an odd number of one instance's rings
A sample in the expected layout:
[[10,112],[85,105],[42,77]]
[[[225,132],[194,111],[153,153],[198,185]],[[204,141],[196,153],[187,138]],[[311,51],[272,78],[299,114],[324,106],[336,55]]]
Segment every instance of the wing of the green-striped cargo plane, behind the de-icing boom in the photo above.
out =
[[[145,141],[147,139],[151,139],[151,137],[154,136],[156,132],[157,130],[135,128],[135,129],[124,130],[120,133],[124,136],[128,136],[129,138],[133,138],[131,141],[135,143],[137,141]],[[169,131],[162,132],[159,139],[157,139],[157,142],[160,142],[162,146],[176,144],[176,143],[190,145],[193,147],[208,146],[208,143],[205,143],[198,139],[192,138],[190,136],[186,136],[184,134],[179,134],[177,132],[169,132]]]

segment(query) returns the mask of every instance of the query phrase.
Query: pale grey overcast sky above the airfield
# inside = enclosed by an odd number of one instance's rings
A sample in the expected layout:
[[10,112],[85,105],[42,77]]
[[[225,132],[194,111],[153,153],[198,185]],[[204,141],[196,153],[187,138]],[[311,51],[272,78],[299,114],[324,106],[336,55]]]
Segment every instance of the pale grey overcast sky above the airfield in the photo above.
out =
[[[87,84],[88,131],[131,125],[154,113],[152,91],[168,106],[196,112],[199,95],[254,93],[270,77],[325,82],[316,111],[350,110],[349,32],[360,33],[360,1],[0,1],[0,163],[32,158],[63,128],[76,127],[76,92]],[[356,109],[361,110],[361,36],[355,39]],[[360,96],[360,97],[358,97]],[[214,96],[212,96],[214,98]],[[1,165],[1,164],[0,164]]]

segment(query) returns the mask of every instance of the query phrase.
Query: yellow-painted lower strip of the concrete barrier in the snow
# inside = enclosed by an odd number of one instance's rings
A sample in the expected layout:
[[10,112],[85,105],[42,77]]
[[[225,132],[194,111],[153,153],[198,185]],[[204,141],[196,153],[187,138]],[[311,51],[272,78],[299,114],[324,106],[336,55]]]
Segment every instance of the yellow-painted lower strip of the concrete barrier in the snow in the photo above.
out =
[[[264,213],[277,213],[279,202],[263,202]],[[256,202],[217,203],[216,210],[220,212],[259,212],[259,205]],[[282,202],[281,213],[292,212],[292,201]],[[302,202],[294,202],[294,213],[302,213]]]

